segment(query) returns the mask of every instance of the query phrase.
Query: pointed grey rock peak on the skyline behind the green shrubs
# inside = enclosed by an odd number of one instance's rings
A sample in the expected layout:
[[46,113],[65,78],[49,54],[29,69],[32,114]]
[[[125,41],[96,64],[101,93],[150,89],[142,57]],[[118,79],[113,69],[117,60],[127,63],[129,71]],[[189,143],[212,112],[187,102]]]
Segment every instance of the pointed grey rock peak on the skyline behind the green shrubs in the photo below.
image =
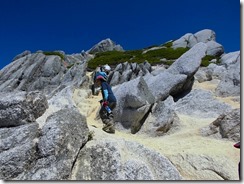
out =
[[111,39],[107,38],[102,40],[98,44],[94,45],[90,50],[87,51],[89,54],[96,54],[99,52],[106,52],[106,51],[124,51],[124,49],[120,45],[116,45]]

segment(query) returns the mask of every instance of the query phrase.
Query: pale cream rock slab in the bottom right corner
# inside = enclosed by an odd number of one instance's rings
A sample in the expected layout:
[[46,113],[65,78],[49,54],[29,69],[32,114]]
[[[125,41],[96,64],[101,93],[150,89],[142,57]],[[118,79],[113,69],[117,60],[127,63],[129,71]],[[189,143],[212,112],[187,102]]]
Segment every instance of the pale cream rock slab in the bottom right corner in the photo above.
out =
[[[235,180],[238,178],[236,165],[228,157],[211,157],[205,154],[177,154],[170,156],[174,165],[179,166],[183,176],[196,180]],[[186,179],[187,179],[186,178]]]

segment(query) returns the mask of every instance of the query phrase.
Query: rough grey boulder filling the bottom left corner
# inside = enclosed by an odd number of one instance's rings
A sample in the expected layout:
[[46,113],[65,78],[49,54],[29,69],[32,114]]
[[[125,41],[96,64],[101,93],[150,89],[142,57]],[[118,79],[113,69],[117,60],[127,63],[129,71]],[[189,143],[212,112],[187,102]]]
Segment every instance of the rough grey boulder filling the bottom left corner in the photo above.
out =
[[17,177],[37,159],[37,123],[0,129],[0,179]]

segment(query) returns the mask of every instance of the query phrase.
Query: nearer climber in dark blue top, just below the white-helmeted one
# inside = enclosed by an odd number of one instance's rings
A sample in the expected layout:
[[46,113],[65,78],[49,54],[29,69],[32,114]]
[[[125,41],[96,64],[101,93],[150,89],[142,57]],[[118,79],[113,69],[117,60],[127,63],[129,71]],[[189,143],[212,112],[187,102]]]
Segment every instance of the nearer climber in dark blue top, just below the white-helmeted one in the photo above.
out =
[[107,133],[115,133],[113,112],[112,110],[116,107],[116,98],[110,85],[106,82],[103,75],[98,75],[96,77],[96,85],[101,87],[101,92],[103,99],[100,100],[101,109],[99,115],[104,124],[103,130]]

